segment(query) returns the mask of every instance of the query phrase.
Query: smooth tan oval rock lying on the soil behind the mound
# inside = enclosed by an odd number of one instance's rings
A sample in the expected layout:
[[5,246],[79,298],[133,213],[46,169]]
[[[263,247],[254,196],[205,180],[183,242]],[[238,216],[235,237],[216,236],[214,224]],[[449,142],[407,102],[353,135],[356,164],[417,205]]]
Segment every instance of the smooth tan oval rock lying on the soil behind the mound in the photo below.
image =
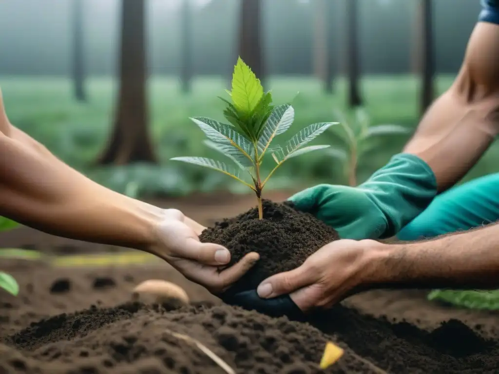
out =
[[145,304],[163,304],[173,308],[189,304],[189,296],[182,287],[159,279],[150,279],[135,287],[132,300]]

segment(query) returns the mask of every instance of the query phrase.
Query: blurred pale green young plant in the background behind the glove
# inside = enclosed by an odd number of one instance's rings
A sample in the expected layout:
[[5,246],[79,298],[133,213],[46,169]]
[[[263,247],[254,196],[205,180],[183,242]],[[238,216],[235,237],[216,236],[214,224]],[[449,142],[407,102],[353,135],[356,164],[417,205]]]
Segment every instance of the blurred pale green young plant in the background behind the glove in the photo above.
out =
[[352,187],[357,186],[359,160],[373,147],[370,140],[377,136],[407,134],[409,132],[407,128],[399,125],[371,126],[369,116],[363,108],[357,108],[349,114],[343,114],[336,110],[335,114],[338,116],[343,129],[343,135],[340,139],[344,149],[330,148],[326,153],[344,165],[345,179]]

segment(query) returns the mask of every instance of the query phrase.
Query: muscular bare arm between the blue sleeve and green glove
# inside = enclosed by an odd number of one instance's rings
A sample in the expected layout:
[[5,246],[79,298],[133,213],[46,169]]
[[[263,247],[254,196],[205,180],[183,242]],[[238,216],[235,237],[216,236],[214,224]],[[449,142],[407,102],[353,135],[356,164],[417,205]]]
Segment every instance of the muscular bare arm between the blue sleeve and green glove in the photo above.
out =
[[452,87],[422,118],[405,152],[426,161],[440,191],[457,183],[499,132],[499,26],[480,22]]

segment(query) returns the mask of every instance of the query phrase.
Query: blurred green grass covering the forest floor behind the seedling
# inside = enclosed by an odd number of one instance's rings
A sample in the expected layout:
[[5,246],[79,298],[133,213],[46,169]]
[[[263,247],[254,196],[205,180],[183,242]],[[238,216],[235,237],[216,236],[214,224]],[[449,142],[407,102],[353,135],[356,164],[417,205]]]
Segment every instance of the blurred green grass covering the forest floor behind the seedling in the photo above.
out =
[[[443,92],[452,80],[450,76],[439,77],[438,91]],[[174,78],[152,77],[149,83],[151,135],[161,165],[101,169],[92,165],[105,146],[113,122],[117,89],[113,79],[89,79],[89,101],[81,104],[73,100],[71,81],[65,78],[0,77],[12,123],[101,184],[124,192],[134,182],[139,186],[140,195],[188,194],[222,187],[238,192],[241,186],[233,184],[224,175],[167,161],[175,156],[214,156],[213,151],[202,145],[204,135],[189,117],[206,116],[222,120],[223,103],[217,96],[224,95],[228,82],[213,77],[199,78],[194,81],[189,95],[180,93],[179,82]],[[272,89],[278,104],[292,100],[296,120],[294,131],[290,133],[294,133],[314,122],[334,121],[333,108],[345,108],[345,83],[343,79],[338,79],[333,95],[324,94],[320,83],[311,78],[275,77],[268,80],[266,88]],[[366,77],[361,85],[373,124],[395,123],[411,129],[416,127],[418,80],[415,77]],[[336,144],[335,131],[331,128],[320,142]],[[286,140],[285,136],[282,136],[282,141]],[[359,181],[368,178],[391,155],[400,152],[407,138],[407,135],[385,138],[376,151],[361,161]],[[499,148],[493,147],[468,179],[494,172],[497,156]],[[267,168],[268,165],[264,166],[264,169]],[[345,183],[341,173],[339,165],[324,153],[317,152],[284,164],[268,187],[289,187],[290,183],[300,184],[300,187],[319,182]],[[242,187],[246,191],[246,187]]]

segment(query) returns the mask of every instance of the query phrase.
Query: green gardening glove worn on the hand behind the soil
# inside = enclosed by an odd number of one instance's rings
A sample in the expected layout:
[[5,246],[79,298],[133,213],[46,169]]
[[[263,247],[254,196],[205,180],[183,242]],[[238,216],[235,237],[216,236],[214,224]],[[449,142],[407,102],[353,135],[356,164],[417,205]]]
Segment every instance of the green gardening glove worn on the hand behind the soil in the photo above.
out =
[[431,168],[419,157],[401,153],[358,187],[318,185],[289,198],[315,215],[342,239],[378,239],[395,235],[437,194]]

